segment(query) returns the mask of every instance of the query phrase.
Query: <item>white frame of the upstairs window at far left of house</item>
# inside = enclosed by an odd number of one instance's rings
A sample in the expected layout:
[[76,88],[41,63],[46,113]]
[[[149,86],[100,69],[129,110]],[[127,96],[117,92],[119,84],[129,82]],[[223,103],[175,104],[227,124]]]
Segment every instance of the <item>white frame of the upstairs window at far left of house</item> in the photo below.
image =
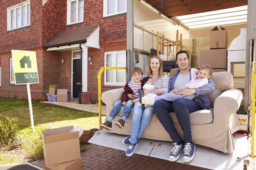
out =
[[[16,4],[14,6],[11,6],[9,8],[7,8],[7,31],[11,31],[11,30],[15,30],[17,28],[22,28],[22,27],[26,27],[26,26],[30,26],[31,23],[31,19],[29,20],[29,24],[28,24],[28,12],[31,18],[31,6],[30,6],[30,10],[28,11],[28,5],[30,5],[30,0],[26,0],[22,3]],[[22,26],[22,7],[25,6],[25,15],[26,15],[26,21],[25,21],[25,26]],[[16,23],[16,10],[17,8],[20,8],[20,26],[17,27]],[[12,20],[11,20],[11,11],[14,10],[14,18],[15,18],[15,27],[12,28]]]

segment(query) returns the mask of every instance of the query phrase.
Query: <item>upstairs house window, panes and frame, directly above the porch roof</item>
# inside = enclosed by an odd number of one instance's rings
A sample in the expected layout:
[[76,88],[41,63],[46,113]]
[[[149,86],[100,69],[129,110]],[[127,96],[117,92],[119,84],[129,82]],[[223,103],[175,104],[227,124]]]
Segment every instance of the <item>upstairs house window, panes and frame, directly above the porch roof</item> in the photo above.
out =
[[84,21],[84,0],[67,0],[67,25]]

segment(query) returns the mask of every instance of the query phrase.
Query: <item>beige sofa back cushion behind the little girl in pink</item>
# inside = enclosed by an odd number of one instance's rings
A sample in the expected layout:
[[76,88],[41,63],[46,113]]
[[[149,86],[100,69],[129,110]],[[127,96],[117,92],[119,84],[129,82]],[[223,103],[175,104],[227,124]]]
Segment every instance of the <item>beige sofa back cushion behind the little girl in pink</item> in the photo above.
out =
[[233,88],[234,83],[232,74],[227,71],[215,72],[212,74],[211,79],[215,83],[215,91],[207,96],[211,102],[211,107],[213,107],[215,99],[221,95],[223,91]]

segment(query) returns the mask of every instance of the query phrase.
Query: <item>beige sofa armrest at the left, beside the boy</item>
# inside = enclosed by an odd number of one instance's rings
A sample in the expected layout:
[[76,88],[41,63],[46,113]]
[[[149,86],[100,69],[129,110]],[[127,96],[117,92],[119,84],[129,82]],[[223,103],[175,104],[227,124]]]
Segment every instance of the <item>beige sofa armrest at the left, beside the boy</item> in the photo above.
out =
[[118,100],[121,100],[123,91],[124,91],[124,88],[117,88],[117,89],[105,91],[102,93],[102,102],[104,102],[107,106],[107,114],[110,113],[114,104]]

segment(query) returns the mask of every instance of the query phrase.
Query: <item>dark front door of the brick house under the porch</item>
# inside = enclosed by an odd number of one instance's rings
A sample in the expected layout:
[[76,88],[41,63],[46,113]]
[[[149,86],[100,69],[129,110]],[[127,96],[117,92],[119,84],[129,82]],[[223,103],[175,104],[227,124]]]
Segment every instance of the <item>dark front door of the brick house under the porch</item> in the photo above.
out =
[[79,97],[80,83],[80,59],[73,59],[73,98]]

